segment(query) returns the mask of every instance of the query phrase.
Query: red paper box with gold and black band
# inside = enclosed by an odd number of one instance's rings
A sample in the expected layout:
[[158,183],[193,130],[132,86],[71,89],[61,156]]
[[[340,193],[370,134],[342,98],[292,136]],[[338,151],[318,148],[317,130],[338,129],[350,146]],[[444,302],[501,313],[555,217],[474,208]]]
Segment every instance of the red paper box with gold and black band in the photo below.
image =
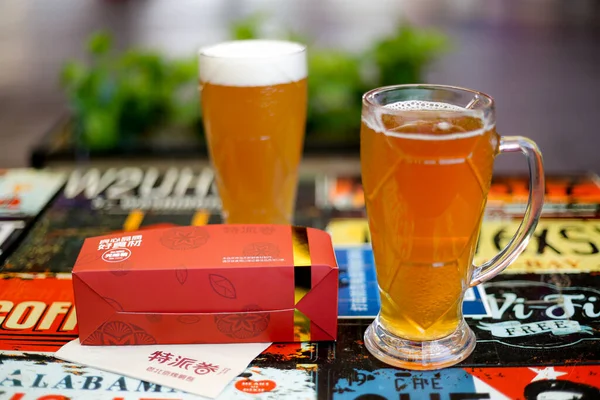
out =
[[86,345],[335,340],[326,232],[208,225],[94,237],[73,268]]

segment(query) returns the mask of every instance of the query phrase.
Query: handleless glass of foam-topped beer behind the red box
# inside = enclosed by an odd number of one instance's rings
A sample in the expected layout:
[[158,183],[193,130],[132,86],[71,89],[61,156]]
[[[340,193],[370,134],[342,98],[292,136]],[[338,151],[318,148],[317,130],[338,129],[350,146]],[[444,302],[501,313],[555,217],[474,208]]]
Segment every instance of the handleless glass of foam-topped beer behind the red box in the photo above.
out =
[[227,223],[292,222],[306,124],[306,49],[241,40],[204,48],[200,90]]

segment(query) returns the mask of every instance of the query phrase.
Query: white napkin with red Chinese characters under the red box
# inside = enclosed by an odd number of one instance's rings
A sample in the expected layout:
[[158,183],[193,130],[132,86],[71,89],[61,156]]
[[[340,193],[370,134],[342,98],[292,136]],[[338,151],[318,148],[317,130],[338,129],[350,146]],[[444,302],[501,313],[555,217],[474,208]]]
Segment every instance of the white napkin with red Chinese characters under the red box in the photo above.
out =
[[75,339],[55,357],[215,398],[270,344],[82,346]]

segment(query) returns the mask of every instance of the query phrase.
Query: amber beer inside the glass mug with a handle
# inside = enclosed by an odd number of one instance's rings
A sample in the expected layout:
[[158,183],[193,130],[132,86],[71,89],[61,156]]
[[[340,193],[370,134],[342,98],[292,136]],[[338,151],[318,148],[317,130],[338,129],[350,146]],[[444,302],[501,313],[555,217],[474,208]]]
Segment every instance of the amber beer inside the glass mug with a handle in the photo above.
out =
[[380,318],[401,338],[440,339],[463,319],[499,136],[476,116],[450,118],[448,104],[387,107],[383,127],[363,119],[361,128]]

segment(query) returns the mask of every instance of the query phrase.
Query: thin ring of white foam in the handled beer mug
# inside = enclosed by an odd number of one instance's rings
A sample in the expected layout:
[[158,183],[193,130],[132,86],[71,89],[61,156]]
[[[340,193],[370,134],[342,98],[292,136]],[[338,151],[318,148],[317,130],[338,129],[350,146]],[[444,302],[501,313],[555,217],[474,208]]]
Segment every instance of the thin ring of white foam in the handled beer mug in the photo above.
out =
[[[423,100],[407,100],[398,101],[396,103],[386,104],[383,108],[397,110],[397,111],[449,111],[449,112],[460,112],[463,115],[469,115],[476,118],[483,119],[483,113],[481,110],[471,110],[461,106],[457,106],[449,103],[442,103],[436,101],[423,101]],[[377,112],[377,110],[375,110]],[[371,118],[363,118],[363,122],[371,129],[376,132],[383,133],[386,136],[398,137],[403,139],[414,139],[414,140],[453,140],[462,139],[478,135],[483,135],[487,130],[491,129],[492,126],[486,126],[483,129],[477,129],[469,132],[457,132],[450,134],[433,134],[433,133],[404,133],[394,132],[384,128],[383,122],[381,121],[381,115],[375,114]],[[440,122],[438,127],[442,130],[449,129],[449,122]]]

